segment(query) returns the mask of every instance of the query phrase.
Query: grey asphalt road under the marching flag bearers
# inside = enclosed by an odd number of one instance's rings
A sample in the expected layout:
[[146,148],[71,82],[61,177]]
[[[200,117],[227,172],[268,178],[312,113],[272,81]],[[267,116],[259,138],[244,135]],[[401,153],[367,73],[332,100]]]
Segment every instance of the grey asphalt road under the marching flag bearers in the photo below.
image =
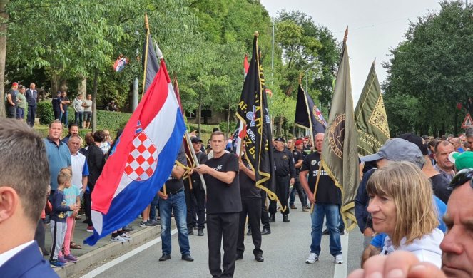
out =
[[[297,198],[296,198],[297,199]],[[298,201],[298,200],[297,200]],[[297,202],[296,201],[296,202]],[[335,265],[328,247],[328,237],[322,237],[322,254],[320,261],[306,264],[305,259],[310,247],[310,215],[298,210],[291,210],[290,223],[284,223],[281,215],[271,223],[271,234],[263,235],[263,257],[265,262],[256,262],[253,258],[253,242],[245,236],[245,254],[243,260],[236,262],[235,277],[346,277],[360,265],[362,252],[362,235],[353,230],[342,236],[342,251],[345,264]],[[175,231],[174,231],[175,232]],[[196,234],[196,233],[195,233]],[[155,240],[148,248],[136,254],[125,254],[116,259],[116,265],[98,267],[85,277],[210,277],[208,272],[207,235],[190,236],[190,253],[194,262],[180,259],[176,233],[172,236],[171,259],[158,262],[161,257],[161,242]],[[223,254],[223,251],[222,251]],[[108,268],[108,269],[107,269]]]

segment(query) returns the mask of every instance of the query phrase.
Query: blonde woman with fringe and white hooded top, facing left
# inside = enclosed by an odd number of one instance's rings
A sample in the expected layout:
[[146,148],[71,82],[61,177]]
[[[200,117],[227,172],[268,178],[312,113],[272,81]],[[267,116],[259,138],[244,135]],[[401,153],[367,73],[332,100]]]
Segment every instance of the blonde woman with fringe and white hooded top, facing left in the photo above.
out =
[[444,233],[424,173],[413,163],[391,162],[373,173],[367,193],[373,228],[387,234],[381,254],[405,250],[440,267]]

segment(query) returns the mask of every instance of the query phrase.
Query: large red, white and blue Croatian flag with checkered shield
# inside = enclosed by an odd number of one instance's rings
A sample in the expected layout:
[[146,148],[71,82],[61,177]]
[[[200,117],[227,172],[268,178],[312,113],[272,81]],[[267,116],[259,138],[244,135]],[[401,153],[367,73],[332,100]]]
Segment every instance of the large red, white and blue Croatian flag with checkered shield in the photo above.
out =
[[92,192],[96,242],[128,225],[147,207],[171,175],[185,132],[183,115],[166,64],[161,66],[123,133]]

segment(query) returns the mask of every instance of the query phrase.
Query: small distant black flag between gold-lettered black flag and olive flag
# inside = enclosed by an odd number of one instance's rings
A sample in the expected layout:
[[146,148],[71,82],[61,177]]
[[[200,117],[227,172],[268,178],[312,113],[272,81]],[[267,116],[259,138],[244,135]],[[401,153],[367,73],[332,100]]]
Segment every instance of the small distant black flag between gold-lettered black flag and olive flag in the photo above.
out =
[[327,122],[308,93],[299,84],[294,123],[301,128],[312,129],[313,135],[325,133]]

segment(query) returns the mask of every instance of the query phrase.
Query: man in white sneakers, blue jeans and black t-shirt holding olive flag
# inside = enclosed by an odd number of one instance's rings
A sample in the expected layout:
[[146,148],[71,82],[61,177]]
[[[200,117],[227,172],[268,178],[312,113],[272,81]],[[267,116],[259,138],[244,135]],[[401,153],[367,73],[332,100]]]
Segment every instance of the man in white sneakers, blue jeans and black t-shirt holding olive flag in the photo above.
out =
[[[321,167],[320,154],[322,153],[323,133],[315,135],[315,148],[317,152],[310,153],[302,162],[300,168],[300,183],[307,192],[310,203],[314,206],[310,217],[312,220],[312,244],[310,244],[310,254],[307,264],[313,264],[319,260],[320,241],[322,240],[322,225],[324,215],[327,217],[327,228],[330,234],[330,254],[335,257],[335,264],[343,264],[342,244],[340,242],[340,230],[338,230],[340,220],[341,192],[335,186],[335,182]],[[307,174],[309,182],[307,183]],[[319,177],[318,185],[317,176]],[[317,187],[317,190],[315,190]]]

